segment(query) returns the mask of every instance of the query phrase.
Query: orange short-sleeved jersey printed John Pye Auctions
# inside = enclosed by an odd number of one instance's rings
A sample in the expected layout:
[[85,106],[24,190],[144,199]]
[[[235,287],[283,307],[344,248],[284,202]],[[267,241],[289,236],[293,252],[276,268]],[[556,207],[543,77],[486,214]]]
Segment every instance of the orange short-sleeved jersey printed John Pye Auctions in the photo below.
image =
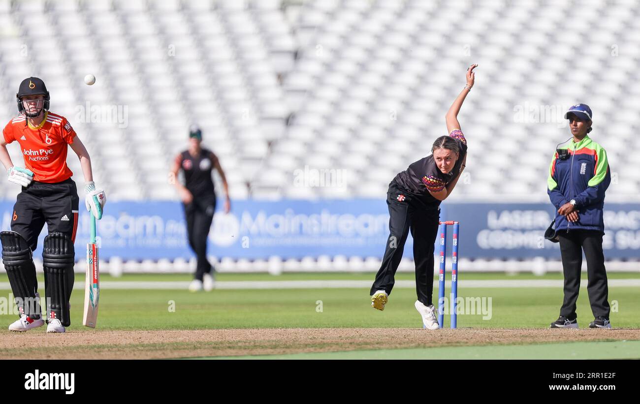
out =
[[6,143],[20,144],[24,165],[33,171],[34,181],[62,182],[73,175],[67,167],[67,149],[76,132],[64,116],[47,111],[37,127],[24,115],[17,116],[4,127],[3,136]]

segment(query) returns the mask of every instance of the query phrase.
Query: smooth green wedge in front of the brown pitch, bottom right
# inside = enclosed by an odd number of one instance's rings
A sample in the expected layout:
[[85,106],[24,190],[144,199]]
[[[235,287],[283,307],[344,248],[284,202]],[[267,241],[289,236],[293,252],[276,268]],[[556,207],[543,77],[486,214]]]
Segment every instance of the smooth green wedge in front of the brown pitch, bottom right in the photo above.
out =
[[189,359],[640,359],[640,341],[383,349]]

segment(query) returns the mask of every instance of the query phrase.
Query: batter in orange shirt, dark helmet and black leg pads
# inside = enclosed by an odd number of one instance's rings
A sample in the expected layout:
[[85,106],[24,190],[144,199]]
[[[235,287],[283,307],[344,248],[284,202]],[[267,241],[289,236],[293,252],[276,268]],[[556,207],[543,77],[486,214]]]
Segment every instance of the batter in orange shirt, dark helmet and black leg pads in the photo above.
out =
[[[69,299],[74,286],[79,203],[73,173],[67,167],[67,146],[80,159],[85,205],[96,219],[102,217],[106,196],[104,190],[96,189],[89,154],[67,118],[49,112],[49,91],[44,82],[37,77],[24,79],[16,99],[20,115],[4,127],[0,143],[0,160],[9,181],[22,185],[13,206],[12,231],[0,233],[4,268],[20,314],[9,329],[26,331],[44,325],[32,251],[46,222],[49,234],[44,239],[42,265],[47,332],[65,332],[71,323]],[[25,168],[14,166],[6,150],[6,144],[13,141],[20,144]]]

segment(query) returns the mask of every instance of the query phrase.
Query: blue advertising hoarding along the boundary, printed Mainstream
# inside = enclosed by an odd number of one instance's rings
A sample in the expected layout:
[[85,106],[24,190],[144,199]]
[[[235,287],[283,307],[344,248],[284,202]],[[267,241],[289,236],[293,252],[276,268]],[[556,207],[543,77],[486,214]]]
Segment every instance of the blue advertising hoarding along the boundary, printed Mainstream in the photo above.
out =
[[[218,204],[220,205],[220,204]],[[0,203],[1,229],[10,229],[13,201]],[[444,203],[442,220],[460,226],[461,258],[559,258],[557,244],[544,240],[553,219],[550,204]],[[76,257],[83,259],[89,216],[79,216]],[[98,221],[100,256],[124,260],[191,258],[182,205],[178,202],[108,203]],[[606,258],[636,259],[640,253],[640,204],[605,205]],[[40,235],[35,256],[42,255]],[[209,254],[230,258],[303,258],[321,255],[378,257],[388,237],[384,199],[234,201],[218,212],[209,234]],[[404,256],[413,257],[409,236]]]

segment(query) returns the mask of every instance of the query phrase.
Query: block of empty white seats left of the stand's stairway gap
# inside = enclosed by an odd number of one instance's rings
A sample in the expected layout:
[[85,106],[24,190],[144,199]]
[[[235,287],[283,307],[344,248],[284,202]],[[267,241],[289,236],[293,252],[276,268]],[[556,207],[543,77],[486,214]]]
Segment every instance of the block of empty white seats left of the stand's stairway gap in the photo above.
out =
[[[232,198],[284,134],[278,72],[293,66],[279,2],[3,1],[0,118],[17,114],[19,82],[42,77],[109,199],[174,199],[167,171],[191,123],[227,171]],[[83,84],[85,74],[97,77]],[[10,146],[15,162],[20,152]],[[82,181],[76,156],[68,158]],[[133,176],[114,175],[128,171]],[[1,180],[3,195],[18,192]]]

